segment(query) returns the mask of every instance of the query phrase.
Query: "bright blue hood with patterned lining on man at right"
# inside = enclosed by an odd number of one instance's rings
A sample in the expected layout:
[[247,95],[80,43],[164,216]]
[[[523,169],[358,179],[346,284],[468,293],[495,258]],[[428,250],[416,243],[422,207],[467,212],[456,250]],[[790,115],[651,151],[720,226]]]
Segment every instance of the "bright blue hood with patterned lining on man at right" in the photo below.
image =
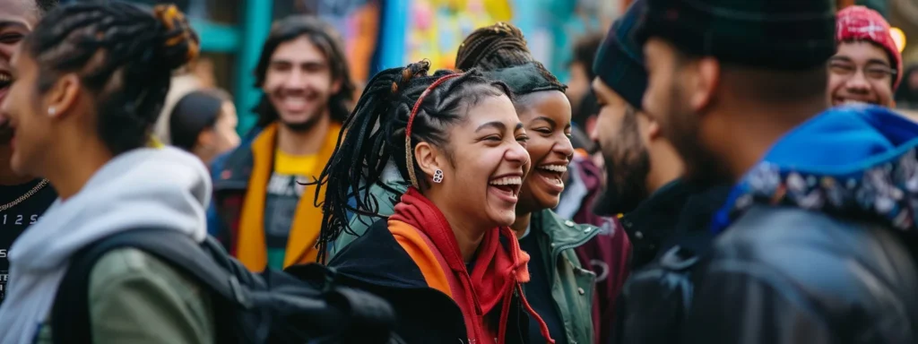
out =
[[877,220],[918,234],[918,124],[889,109],[847,105],[791,130],[747,172],[714,217],[719,233],[752,205]]

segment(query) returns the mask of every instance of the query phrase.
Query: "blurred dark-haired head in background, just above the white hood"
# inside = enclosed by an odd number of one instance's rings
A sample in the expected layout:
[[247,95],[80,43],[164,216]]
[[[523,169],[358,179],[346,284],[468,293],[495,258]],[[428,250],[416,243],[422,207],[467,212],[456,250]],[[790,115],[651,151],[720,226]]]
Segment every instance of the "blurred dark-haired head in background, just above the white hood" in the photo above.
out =
[[185,94],[169,117],[172,144],[192,152],[209,165],[218,155],[239,145],[236,106],[221,90]]

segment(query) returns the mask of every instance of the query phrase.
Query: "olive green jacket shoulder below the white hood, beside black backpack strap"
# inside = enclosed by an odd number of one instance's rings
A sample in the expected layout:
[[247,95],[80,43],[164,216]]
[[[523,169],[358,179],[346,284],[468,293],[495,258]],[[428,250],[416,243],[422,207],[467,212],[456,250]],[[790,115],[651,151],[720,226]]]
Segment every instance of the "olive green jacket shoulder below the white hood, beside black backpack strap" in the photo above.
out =
[[[210,310],[210,297],[197,283],[141,250],[112,250],[90,274],[94,343],[213,343]],[[53,343],[52,333],[49,319],[36,343]]]

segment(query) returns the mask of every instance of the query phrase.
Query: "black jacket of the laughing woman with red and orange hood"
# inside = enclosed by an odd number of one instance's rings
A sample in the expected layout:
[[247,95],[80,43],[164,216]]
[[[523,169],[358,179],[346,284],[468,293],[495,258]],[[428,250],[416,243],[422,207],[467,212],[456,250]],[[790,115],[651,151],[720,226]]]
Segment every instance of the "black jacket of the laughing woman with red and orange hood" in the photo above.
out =
[[[386,227],[386,220],[376,221],[328,265],[336,272],[338,283],[386,299],[396,311],[396,333],[406,343],[468,343],[459,306],[449,295],[428,287],[418,265]],[[527,343],[529,315],[517,295],[510,307],[506,343]]]

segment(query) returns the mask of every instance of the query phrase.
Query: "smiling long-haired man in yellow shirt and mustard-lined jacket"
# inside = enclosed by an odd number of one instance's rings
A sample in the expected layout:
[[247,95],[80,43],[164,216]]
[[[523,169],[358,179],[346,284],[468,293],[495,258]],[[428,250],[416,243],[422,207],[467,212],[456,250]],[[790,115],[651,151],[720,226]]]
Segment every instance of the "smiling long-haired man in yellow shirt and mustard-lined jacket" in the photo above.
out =
[[341,42],[316,17],[274,24],[255,68],[259,119],[214,161],[210,232],[252,271],[316,261],[322,211],[313,183],[338,142],[354,85]]

